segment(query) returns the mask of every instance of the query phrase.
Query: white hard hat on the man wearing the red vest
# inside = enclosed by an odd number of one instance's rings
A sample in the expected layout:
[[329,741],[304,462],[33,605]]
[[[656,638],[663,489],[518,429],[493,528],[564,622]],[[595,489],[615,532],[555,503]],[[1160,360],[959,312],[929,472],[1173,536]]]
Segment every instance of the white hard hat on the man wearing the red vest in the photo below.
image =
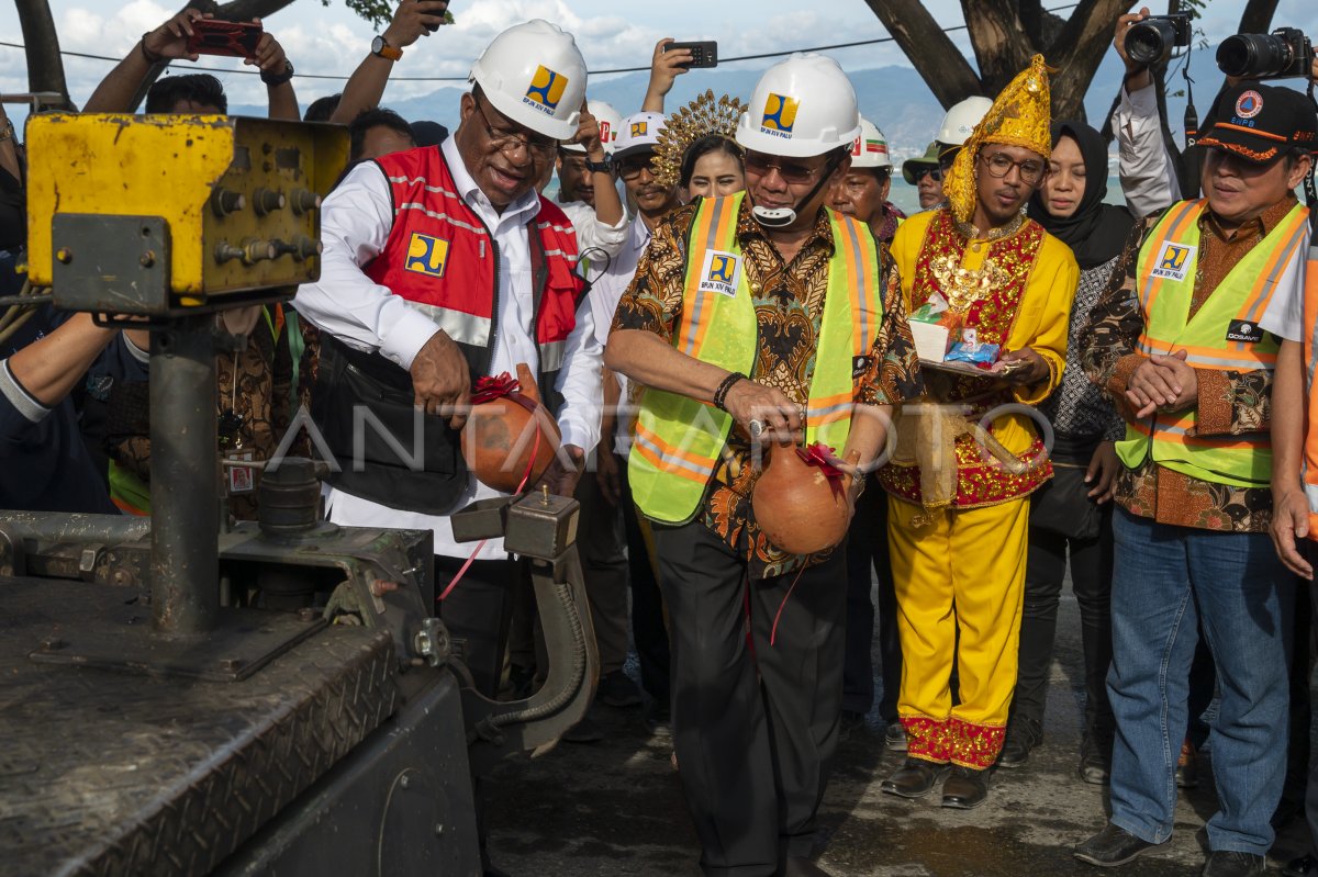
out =
[[555,140],[576,134],[585,59],[556,25],[535,18],[494,37],[472,65],[472,82],[517,124]]

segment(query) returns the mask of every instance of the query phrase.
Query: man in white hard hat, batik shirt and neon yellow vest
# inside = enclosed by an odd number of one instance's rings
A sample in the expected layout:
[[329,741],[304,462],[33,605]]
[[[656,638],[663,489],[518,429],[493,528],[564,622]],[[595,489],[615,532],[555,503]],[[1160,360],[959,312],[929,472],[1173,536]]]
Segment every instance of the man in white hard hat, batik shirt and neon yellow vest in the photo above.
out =
[[[808,853],[837,745],[845,564],[768,540],[753,446],[776,437],[791,454],[804,429],[815,464],[869,462],[884,408],[919,392],[891,265],[825,208],[859,133],[836,62],[770,68],[737,129],[746,191],[659,224],[609,336],[609,367],[646,387],[629,479],[654,523],[673,745],[706,874],[825,873]],[[859,479],[824,471],[853,502]]]

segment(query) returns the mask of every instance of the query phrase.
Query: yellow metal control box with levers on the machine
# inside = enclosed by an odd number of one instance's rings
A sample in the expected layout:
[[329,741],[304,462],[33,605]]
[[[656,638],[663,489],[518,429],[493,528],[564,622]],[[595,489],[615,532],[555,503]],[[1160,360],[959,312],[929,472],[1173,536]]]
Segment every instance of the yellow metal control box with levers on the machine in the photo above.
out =
[[208,295],[319,277],[319,196],[347,163],[339,125],[237,116],[33,116],[28,122],[28,262],[51,286],[57,213],[158,216],[170,290]]

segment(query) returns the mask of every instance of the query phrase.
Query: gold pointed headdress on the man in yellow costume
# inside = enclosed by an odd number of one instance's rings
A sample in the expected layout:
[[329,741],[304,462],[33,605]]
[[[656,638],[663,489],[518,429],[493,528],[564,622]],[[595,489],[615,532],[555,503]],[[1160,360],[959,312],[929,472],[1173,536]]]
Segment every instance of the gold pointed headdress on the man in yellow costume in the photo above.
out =
[[1006,144],[1024,146],[1045,159],[1052,155],[1052,91],[1048,72],[1044,57],[1035,55],[1029,67],[1002,90],[957,153],[952,171],[942,180],[942,191],[957,220],[969,223],[975,212],[975,157],[981,146]]

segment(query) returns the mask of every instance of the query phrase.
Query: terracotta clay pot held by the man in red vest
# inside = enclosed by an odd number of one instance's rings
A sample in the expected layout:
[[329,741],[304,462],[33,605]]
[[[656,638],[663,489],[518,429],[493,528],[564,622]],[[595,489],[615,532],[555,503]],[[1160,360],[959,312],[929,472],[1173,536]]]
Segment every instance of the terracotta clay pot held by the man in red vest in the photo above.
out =
[[[505,494],[535,486],[559,450],[559,428],[540,406],[540,391],[525,362],[517,365],[518,390],[496,390],[476,402],[463,428],[463,457],[476,479]],[[473,402],[480,386],[472,388]],[[536,441],[539,432],[539,441]],[[534,454],[534,462],[532,462]],[[530,467],[530,473],[527,469]]]

